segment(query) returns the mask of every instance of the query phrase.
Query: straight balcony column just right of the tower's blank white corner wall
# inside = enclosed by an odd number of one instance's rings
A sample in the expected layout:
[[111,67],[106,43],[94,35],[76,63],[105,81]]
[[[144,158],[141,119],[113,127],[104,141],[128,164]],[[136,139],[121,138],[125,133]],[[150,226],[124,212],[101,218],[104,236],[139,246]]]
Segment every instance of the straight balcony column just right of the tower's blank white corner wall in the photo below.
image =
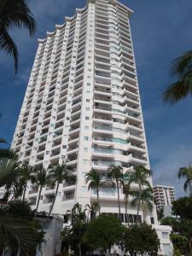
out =
[[112,90],[109,48],[108,1],[96,1],[96,80],[92,165],[106,172],[113,162]]

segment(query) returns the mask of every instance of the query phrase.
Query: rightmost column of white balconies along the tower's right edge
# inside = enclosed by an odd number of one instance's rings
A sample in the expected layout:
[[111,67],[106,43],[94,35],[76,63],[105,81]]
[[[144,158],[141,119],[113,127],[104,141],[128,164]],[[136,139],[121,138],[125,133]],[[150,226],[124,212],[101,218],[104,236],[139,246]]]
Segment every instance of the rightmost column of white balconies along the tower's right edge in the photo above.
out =
[[121,80],[124,112],[126,114],[125,130],[129,142],[129,159],[131,166],[148,164],[145,157],[145,140],[143,137],[143,120],[137,90],[137,73],[132,50],[131,33],[128,25],[128,12],[117,6],[119,23],[119,46],[121,60]]

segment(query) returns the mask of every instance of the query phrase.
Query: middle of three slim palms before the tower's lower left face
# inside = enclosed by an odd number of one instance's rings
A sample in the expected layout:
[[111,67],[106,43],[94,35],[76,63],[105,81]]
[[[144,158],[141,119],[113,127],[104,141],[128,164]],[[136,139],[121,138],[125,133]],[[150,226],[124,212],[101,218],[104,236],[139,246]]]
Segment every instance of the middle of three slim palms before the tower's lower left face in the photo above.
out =
[[41,192],[44,186],[49,184],[49,175],[47,175],[47,171],[44,169],[44,166],[40,166],[37,169],[34,169],[34,178],[32,179],[32,183],[38,186],[38,202],[36,207],[35,216],[38,213],[38,205],[41,198]]

